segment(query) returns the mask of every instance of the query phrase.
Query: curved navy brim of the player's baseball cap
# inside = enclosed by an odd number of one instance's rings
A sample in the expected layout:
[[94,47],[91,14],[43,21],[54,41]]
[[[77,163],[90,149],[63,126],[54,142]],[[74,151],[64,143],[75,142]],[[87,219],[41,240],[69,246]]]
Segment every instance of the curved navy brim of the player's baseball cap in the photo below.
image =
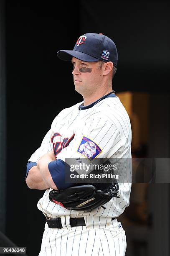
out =
[[57,56],[59,59],[62,59],[64,61],[71,61],[72,57],[75,57],[77,59],[80,59],[81,61],[87,61],[87,62],[94,62],[99,61],[99,59],[96,59],[88,54],[84,54],[81,51],[74,51],[74,50],[60,50],[57,52]]

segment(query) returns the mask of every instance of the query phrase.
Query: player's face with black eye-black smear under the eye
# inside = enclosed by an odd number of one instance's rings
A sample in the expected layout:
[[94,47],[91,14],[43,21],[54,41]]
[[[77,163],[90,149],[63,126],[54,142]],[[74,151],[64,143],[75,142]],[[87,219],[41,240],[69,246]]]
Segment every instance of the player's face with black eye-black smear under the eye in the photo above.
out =
[[75,90],[81,95],[91,95],[96,90],[99,90],[99,84],[102,79],[102,69],[99,69],[99,63],[86,62],[72,58],[73,63],[73,76]]

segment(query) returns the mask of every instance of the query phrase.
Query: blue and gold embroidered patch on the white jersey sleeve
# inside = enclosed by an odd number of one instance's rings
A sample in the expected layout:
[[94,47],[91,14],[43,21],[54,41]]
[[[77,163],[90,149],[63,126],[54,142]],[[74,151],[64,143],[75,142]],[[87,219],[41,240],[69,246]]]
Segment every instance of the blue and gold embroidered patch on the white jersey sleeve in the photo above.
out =
[[91,139],[86,138],[85,136],[82,138],[81,143],[77,152],[86,156],[90,161],[94,159],[101,153],[101,148]]

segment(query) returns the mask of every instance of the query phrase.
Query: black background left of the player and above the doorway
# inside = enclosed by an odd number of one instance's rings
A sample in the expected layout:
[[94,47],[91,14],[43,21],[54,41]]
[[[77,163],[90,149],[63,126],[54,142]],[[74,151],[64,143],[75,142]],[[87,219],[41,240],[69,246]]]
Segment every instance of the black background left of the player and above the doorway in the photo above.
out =
[[56,52],[73,49],[84,33],[103,33],[119,54],[116,92],[169,94],[169,7],[162,1],[5,2],[6,235],[29,256],[40,251],[45,217],[37,209],[43,191],[24,181],[27,161],[59,111],[82,100],[71,63]]

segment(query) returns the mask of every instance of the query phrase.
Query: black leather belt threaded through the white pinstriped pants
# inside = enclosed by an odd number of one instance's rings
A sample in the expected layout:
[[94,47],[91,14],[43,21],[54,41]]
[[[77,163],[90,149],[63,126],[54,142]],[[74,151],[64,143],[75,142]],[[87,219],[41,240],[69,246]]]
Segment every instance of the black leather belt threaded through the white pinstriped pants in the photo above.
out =
[[[112,218],[114,220],[115,218]],[[61,224],[61,218],[56,219],[49,219],[46,218],[46,222],[48,224],[48,228],[63,228]],[[85,220],[84,218],[70,218],[70,225],[71,227],[77,227],[77,226],[85,226]]]

